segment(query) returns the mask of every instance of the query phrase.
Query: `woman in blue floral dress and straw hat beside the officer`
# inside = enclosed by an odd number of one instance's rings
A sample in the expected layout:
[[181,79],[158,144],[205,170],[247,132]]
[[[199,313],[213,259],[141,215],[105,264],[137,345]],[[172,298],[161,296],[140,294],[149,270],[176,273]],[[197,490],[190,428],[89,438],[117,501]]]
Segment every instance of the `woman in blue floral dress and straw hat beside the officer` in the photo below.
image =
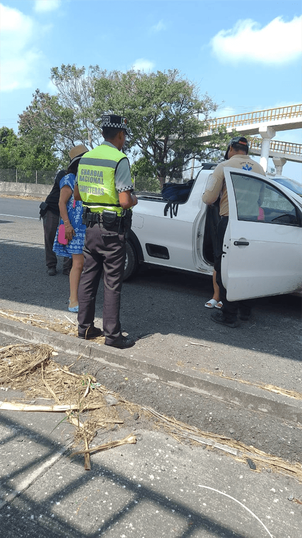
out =
[[74,199],[74,186],[78,163],[84,153],[88,149],[83,146],[75,146],[70,151],[70,164],[67,168],[67,175],[60,181],[60,200],[59,209],[61,220],[59,223],[65,226],[65,238],[68,241],[67,245],[62,245],[58,241],[59,227],[56,231],[53,251],[57,256],[68,256],[73,259],[73,266],[69,274],[70,296],[69,296],[69,312],[78,312],[77,288],[83,271],[83,247],[85,241],[86,226],[82,224],[83,208],[82,202],[77,202]]

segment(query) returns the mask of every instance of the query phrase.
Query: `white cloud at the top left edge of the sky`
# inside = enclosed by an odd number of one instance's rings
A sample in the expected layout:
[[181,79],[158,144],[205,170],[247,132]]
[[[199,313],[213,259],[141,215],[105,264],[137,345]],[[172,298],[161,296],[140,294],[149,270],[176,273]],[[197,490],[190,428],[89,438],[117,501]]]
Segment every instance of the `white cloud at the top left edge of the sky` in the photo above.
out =
[[30,88],[42,59],[34,46],[37,25],[34,20],[0,4],[2,91]]

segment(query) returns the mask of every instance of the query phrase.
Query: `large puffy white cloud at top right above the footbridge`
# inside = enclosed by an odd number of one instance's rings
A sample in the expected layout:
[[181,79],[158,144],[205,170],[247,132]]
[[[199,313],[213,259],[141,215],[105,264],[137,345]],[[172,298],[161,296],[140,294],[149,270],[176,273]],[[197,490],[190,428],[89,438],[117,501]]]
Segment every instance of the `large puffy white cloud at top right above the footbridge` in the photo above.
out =
[[301,22],[302,17],[289,22],[277,17],[261,28],[254,20],[239,20],[231,30],[221,30],[211,39],[212,51],[219,60],[229,63],[288,63],[301,54]]

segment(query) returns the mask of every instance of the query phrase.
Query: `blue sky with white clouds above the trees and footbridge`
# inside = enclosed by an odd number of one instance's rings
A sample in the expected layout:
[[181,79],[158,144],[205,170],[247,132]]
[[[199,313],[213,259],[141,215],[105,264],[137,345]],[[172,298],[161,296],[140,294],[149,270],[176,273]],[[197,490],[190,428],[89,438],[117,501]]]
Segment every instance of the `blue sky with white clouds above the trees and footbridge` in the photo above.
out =
[[[52,67],[177,68],[220,104],[217,116],[301,103],[301,3],[254,0],[10,0],[1,2],[1,125]],[[275,139],[301,143],[301,130]],[[272,162],[270,163],[272,164]],[[302,166],[283,174],[301,180]]]

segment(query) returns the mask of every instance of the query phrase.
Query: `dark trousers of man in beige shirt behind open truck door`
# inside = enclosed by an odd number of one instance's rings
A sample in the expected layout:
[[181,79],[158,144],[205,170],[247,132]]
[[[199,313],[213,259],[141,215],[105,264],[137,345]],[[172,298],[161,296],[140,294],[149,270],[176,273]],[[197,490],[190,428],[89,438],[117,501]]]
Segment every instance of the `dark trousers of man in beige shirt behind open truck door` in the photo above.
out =
[[219,300],[222,302],[222,314],[224,314],[228,321],[234,321],[237,318],[238,310],[242,318],[243,316],[248,317],[250,315],[251,301],[228,301],[226,298],[227,291],[221,279],[221,259],[222,254],[226,252],[224,249],[224,237],[227,224],[228,217],[221,217],[217,226],[217,251],[215,253],[214,269],[216,270],[216,282],[219,286]]

